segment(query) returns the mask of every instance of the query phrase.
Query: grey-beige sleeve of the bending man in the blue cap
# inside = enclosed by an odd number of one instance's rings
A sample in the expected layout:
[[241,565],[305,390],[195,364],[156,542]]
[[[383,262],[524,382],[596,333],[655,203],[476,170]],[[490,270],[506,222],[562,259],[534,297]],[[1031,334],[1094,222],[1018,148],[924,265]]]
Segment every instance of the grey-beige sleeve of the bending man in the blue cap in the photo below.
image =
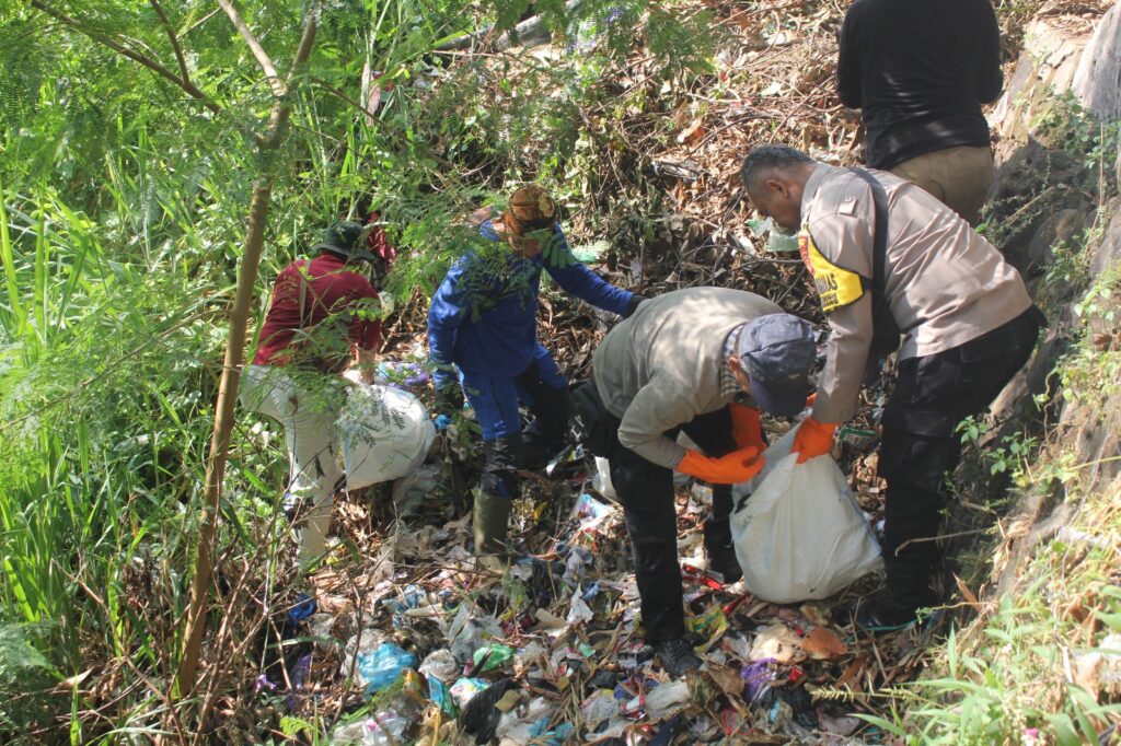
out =
[[696,412],[680,395],[679,383],[666,385],[658,379],[639,389],[619,423],[619,442],[648,461],[676,468],[685,457],[685,448],[667,438],[666,431],[692,420]]

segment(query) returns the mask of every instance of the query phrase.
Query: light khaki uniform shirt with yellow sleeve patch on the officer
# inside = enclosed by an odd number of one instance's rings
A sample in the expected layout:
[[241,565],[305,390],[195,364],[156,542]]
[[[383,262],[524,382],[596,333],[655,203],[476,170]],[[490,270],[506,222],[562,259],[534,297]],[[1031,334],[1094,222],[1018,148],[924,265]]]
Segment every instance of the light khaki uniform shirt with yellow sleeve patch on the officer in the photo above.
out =
[[[872,171],[888,195],[884,296],[904,333],[899,358],[951,349],[1031,306],[1020,274],[952,209],[910,181]],[[814,404],[821,422],[856,413],[872,342],[872,189],[819,164],[802,198],[802,259],[832,334]]]

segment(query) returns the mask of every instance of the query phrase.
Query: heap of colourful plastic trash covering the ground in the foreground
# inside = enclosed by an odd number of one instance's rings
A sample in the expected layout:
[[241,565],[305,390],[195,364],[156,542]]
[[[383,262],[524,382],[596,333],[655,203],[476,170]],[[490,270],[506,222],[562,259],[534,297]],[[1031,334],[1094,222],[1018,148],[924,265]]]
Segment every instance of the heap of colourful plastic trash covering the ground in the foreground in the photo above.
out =
[[470,516],[455,515],[438,472],[426,479],[432,494],[391,525],[344,521],[361,561],[315,576],[318,613],[294,632],[315,645],[286,705],[337,712],[330,743],[878,743],[842,693],[882,677],[878,655],[899,651],[899,678],[918,665],[902,635],[877,651],[855,637],[845,597],[777,605],[722,586],[702,549],[711,491],[692,485],[678,492],[678,550],[705,665],[671,679],[642,640],[622,511],[594,492],[610,487],[591,459],[571,454],[552,491],[526,479],[509,566],[471,556]]

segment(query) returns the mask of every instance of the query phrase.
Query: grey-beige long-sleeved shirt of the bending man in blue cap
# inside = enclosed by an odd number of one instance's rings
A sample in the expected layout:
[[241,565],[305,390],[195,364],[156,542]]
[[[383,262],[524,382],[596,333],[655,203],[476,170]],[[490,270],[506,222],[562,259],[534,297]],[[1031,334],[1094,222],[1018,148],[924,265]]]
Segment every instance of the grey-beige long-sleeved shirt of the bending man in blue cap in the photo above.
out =
[[666,432],[726,407],[724,343],[738,326],[782,309],[729,288],[686,288],[645,301],[604,337],[592,358],[603,405],[620,419],[619,442],[674,468],[685,448]]

